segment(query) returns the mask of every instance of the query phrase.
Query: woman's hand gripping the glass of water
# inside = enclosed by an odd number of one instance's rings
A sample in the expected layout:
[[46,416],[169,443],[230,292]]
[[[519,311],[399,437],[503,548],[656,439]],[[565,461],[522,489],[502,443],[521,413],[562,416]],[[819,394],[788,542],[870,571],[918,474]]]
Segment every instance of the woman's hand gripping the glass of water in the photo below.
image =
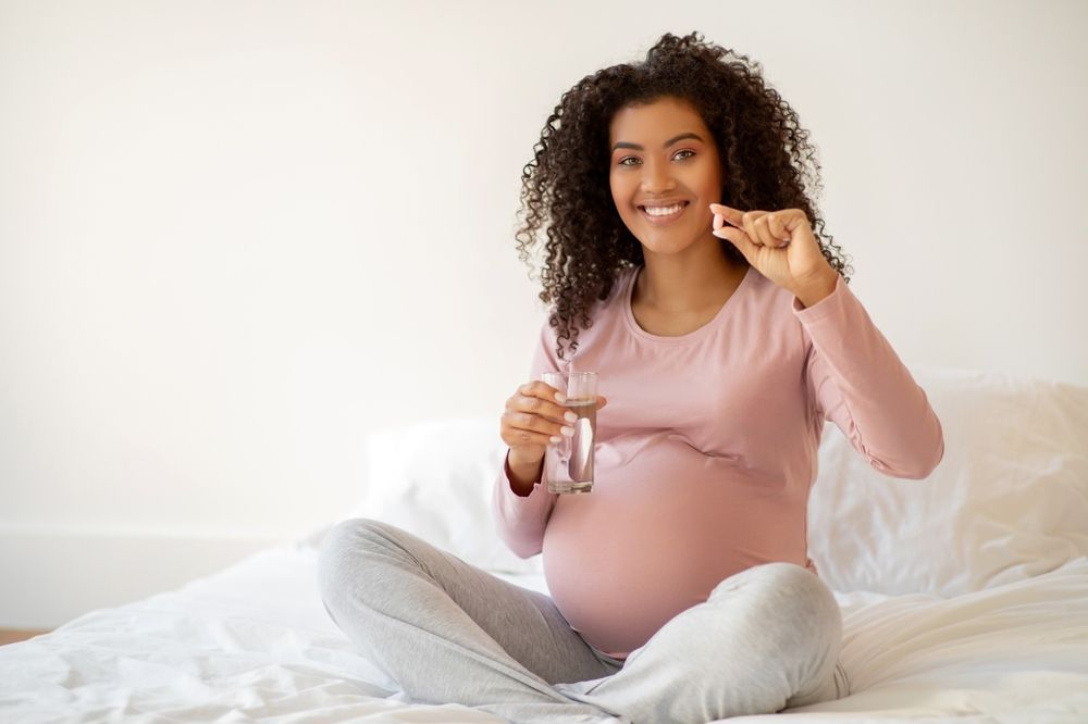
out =
[[[546,383],[533,380],[519,387],[506,401],[499,435],[510,447],[511,463],[539,463],[549,442],[573,435],[570,425],[578,417],[562,405],[565,398],[561,395],[557,398],[558,391]],[[607,403],[605,398],[597,396],[597,410]]]

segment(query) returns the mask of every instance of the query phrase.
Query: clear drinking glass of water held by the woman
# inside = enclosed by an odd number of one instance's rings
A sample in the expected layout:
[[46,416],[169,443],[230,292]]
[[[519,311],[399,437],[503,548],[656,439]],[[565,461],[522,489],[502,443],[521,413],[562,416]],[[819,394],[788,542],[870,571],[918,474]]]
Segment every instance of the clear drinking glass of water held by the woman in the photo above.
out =
[[589,492],[593,489],[593,447],[597,437],[597,373],[545,372],[541,382],[567,396],[562,405],[578,415],[571,437],[548,444],[544,451],[548,492]]

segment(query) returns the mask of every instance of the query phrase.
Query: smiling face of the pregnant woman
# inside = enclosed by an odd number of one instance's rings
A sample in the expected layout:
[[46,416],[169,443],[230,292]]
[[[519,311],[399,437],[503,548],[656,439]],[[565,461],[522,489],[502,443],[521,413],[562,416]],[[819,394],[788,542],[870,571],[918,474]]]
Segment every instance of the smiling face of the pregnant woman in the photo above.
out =
[[621,108],[608,147],[613,201],[644,250],[718,246],[709,204],[720,202],[721,164],[714,137],[690,103],[666,97]]

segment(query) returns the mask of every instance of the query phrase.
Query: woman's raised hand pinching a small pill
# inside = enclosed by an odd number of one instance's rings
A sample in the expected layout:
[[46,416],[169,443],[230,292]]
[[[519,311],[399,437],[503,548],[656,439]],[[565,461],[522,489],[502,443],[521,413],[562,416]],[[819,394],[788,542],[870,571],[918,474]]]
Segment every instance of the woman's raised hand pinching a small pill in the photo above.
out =
[[828,263],[800,209],[738,211],[712,203],[714,230],[757,272],[812,307],[832,291],[838,272]]

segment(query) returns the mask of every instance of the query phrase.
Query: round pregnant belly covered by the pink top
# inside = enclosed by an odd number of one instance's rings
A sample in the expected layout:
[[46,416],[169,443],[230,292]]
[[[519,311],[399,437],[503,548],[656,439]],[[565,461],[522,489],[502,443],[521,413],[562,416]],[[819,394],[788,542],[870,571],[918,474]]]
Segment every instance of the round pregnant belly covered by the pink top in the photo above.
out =
[[608,452],[592,492],[559,496],[543,548],[556,606],[598,649],[642,646],[752,565],[804,565],[805,496],[793,500],[781,480],[675,439],[620,464]]

